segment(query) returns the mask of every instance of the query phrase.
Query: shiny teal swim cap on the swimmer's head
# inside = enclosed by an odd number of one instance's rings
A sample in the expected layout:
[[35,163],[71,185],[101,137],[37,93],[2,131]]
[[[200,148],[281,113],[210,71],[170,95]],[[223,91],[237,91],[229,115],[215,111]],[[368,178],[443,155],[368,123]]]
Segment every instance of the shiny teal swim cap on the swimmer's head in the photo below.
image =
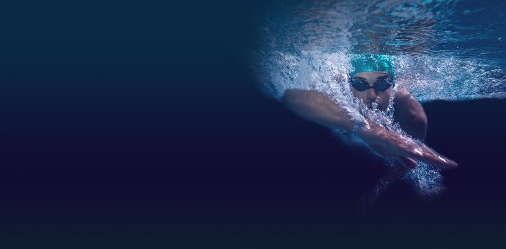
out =
[[392,58],[388,55],[353,55],[351,57],[350,77],[357,73],[381,71],[388,73],[392,78],[392,86],[395,86],[395,74],[393,73]]

